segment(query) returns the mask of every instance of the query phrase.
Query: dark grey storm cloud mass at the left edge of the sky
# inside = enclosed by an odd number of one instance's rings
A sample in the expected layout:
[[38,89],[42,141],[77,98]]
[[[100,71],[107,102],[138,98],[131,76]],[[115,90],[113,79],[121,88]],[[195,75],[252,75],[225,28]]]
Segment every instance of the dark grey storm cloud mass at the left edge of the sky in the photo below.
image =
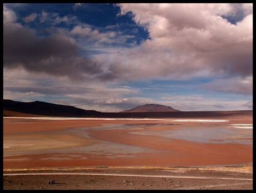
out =
[[65,34],[37,35],[18,23],[3,24],[3,67],[82,79],[102,73],[101,65],[82,57],[74,39]]

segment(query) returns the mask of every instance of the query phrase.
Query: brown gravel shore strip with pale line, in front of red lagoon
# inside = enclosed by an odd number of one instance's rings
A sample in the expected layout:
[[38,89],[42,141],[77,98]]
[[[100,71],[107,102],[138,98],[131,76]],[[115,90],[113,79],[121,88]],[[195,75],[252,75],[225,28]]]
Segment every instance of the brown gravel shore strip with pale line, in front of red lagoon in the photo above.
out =
[[[3,171],[4,190],[252,190],[249,167],[106,167]],[[54,180],[53,184],[48,181]]]

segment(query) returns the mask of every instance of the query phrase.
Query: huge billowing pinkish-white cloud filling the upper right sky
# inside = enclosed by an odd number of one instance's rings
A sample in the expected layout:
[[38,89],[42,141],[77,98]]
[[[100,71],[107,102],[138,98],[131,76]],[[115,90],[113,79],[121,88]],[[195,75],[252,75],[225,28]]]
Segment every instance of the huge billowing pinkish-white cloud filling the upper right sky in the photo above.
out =
[[132,12],[134,21],[147,29],[150,39],[139,48],[113,53],[106,74],[109,79],[252,75],[252,13],[244,11],[247,15],[234,25],[220,16],[232,12],[229,4],[119,6],[121,14]]

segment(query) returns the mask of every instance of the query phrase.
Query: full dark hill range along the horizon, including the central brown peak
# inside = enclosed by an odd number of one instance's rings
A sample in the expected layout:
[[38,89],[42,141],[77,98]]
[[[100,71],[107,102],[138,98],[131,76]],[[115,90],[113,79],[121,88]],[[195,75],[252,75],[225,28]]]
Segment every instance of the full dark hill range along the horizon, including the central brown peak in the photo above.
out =
[[237,111],[179,111],[170,106],[146,104],[119,113],[102,113],[75,106],[43,101],[20,102],[3,99],[3,116],[57,116],[77,118],[216,118],[223,116],[252,116],[253,110]]

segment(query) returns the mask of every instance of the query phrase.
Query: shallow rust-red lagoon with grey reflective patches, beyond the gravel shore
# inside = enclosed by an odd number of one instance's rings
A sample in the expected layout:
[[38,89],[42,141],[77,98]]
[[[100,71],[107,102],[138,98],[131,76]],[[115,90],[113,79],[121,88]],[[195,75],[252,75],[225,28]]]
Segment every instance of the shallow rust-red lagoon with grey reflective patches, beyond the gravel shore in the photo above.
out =
[[[55,120],[51,121],[54,122]],[[5,123],[12,124],[12,129],[15,130],[21,126],[20,124],[29,126],[35,123],[37,126],[37,124],[45,124],[46,122],[45,119],[37,122],[8,119]],[[79,127],[62,123],[63,129],[61,130],[42,130],[35,133],[30,133],[31,130],[29,130],[29,133],[4,134],[3,160],[7,164],[8,162],[12,164],[15,161],[16,164],[21,164],[19,167],[23,167],[27,161],[32,160],[35,160],[35,163],[45,161],[48,165],[51,164],[51,161],[62,161],[61,164],[64,166],[65,161],[74,161],[74,166],[76,164],[85,164],[86,166],[94,165],[95,161],[99,162],[97,165],[102,165],[109,160],[115,160],[117,165],[119,162],[121,165],[127,164],[126,160],[129,160],[129,164],[140,164],[141,160],[149,165],[179,165],[181,162],[183,164],[186,162],[190,164],[191,161],[197,163],[205,157],[208,159],[209,155],[200,155],[202,158],[194,156],[199,155],[195,150],[200,144],[196,143],[213,144],[213,146],[205,146],[205,148],[209,147],[211,152],[215,151],[216,153],[219,153],[221,149],[218,149],[214,144],[253,145],[253,124],[235,124],[230,121],[218,120],[212,122],[208,120],[200,122],[194,120],[191,123],[188,120],[173,120],[171,122],[171,120],[162,119],[161,121],[154,120],[152,123],[143,123],[141,120],[130,123],[126,120],[126,122],[112,121],[111,123],[102,121],[95,126],[90,126],[87,124],[88,122],[85,122]],[[49,122],[47,123],[49,124]],[[98,137],[98,135],[100,136]],[[174,146],[173,139],[185,141],[175,142],[183,145],[184,148],[179,148],[179,145]],[[188,154],[186,149],[190,149],[190,144],[193,145],[190,154]],[[235,158],[237,153],[232,152],[234,150],[232,146],[230,148],[225,147],[229,149],[229,154]],[[207,152],[205,149],[205,153]],[[221,159],[230,158],[232,160],[230,155],[227,155],[226,158],[225,154],[227,154],[226,150],[221,153],[223,155]],[[161,160],[161,158],[163,159]]]

